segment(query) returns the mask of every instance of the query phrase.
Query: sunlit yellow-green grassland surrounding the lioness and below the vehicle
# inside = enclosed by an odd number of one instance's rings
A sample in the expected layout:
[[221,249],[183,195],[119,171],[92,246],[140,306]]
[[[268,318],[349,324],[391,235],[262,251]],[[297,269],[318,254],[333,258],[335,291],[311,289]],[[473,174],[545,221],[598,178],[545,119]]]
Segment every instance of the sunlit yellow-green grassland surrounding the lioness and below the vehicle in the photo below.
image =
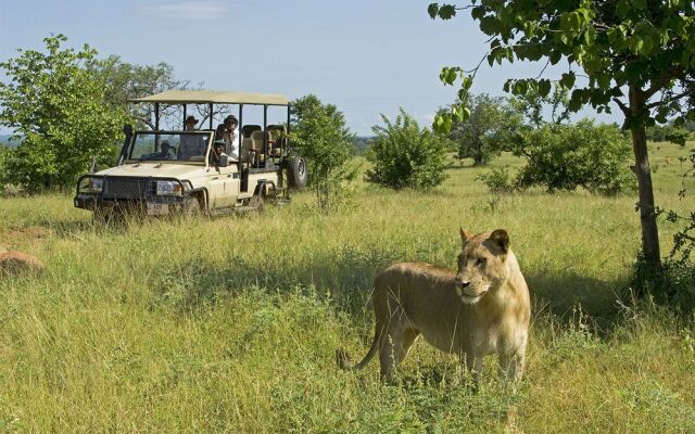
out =
[[[692,210],[677,195],[686,151],[654,151],[658,205]],[[630,297],[636,195],[494,197],[482,170],[453,166],[427,194],[359,183],[328,216],[305,193],[263,216],[121,230],[70,194],[0,199],[0,245],[47,266],[0,278],[0,432],[695,432],[695,319]],[[488,360],[472,393],[424,342],[397,386],[377,363],[338,371],[338,346],[366,352],[375,273],[453,267],[459,226],[506,228],[531,288],[519,391]],[[660,230],[668,252],[678,227]]]

